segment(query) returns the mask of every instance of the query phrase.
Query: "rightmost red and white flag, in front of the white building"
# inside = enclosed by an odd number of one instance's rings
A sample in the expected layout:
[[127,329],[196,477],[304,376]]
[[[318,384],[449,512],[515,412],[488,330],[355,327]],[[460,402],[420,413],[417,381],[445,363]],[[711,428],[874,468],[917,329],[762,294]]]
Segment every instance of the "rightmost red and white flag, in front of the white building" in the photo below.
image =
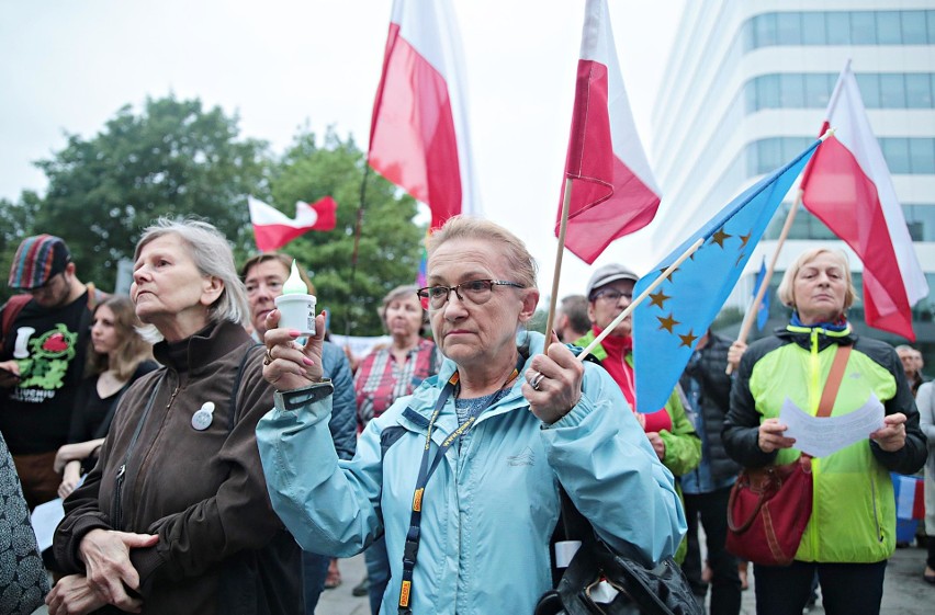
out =
[[802,203],[864,262],[867,324],[915,341],[911,307],[928,295],[928,284],[849,61],[831,94],[822,134],[829,127],[834,135],[802,175]]

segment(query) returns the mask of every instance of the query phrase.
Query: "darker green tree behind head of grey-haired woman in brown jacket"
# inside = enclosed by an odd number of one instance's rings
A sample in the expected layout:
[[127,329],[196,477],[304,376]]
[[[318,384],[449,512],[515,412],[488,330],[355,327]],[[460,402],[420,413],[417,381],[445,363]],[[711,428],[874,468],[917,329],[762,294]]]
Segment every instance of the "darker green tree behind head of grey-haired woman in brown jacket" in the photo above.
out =
[[98,135],[68,135],[37,162],[48,191],[27,207],[25,230],[63,237],[79,277],[101,288],[162,215],[206,219],[243,252],[252,242],[247,195],[266,185],[269,155],[264,141],[238,135],[236,116],[199,100],[148,99],[139,115],[124,106]]

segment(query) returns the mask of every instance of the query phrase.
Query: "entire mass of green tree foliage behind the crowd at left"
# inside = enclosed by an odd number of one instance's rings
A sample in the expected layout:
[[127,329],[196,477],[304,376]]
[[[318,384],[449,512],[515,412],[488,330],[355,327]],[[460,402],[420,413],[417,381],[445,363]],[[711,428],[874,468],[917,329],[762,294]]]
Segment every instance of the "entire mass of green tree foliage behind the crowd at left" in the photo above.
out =
[[[23,192],[0,200],[0,271],[9,271],[23,237],[63,237],[78,276],[114,287],[116,263],[132,259],[142,230],[159,216],[194,216],[226,235],[238,262],[256,251],[247,196],[294,215],[296,201],[330,195],[338,224],[308,232],[285,251],[313,275],[318,305],[333,315],[331,330],[380,334],[376,307],[393,287],[415,280],[425,229],[413,224],[415,202],[370,173],[363,232],[351,283],[354,225],[364,176],[363,152],[353,139],[328,130],[319,144],[303,130],[282,156],[261,140],[241,138],[236,116],[199,100],[149,99],[140,113],[121,109],[91,138],[67,135],[67,145],[36,164],[48,179],[45,195]],[[0,295],[9,296],[5,284]]]

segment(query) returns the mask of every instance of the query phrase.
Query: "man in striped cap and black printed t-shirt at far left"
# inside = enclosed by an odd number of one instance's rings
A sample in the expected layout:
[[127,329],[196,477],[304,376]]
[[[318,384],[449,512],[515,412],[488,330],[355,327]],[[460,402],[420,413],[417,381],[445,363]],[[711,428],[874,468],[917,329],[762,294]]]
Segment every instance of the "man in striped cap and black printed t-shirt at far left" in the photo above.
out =
[[93,291],[75,275],[65,241],[52,235],[20,243],[9,284],[25,295],[2,307],[0,433],[33,509],[55,499],[61,481],[53,463],[83,375]]

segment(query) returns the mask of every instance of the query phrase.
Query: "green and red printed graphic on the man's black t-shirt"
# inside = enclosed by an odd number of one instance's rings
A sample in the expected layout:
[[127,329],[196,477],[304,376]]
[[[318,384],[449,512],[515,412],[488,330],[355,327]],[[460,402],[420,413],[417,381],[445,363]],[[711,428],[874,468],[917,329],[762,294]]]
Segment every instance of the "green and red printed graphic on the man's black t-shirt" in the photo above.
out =
[[13,397],[30,403],[54,397],[55,390],[65,384],[68,365],[77,354],[77,342],[78,333],[69,331],[60,322],[42,335],[30,339],[26,342],[30,355],[16,360],[20,384]]

